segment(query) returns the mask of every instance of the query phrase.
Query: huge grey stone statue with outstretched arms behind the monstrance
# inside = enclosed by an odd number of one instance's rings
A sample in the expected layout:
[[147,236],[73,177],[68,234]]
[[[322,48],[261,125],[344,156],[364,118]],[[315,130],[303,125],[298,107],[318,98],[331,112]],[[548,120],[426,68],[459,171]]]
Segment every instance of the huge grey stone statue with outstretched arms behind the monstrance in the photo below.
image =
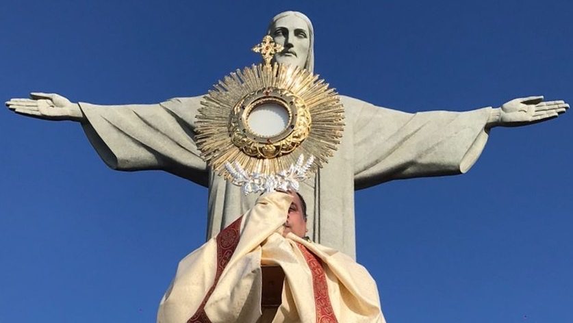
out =
[[[307,16],[278,14],[268,34],[285,48],[275,55],[276,62],[313,72],[314,29]],[[199,157],[194,135],[201,98],[102,106],[31,93],[31,99],[12,99],[6,105],[26,116],[80,122],[110,168],[165,170],[208,188],[209,238],[252,207],[256,196],[243,196],[239,187],[216,175]],[[342,142],[300,192],[307,199],[309,237],[351,256],[355,190],[393,179],[462,174],[481,154],[492,127],[529,125],[555,118],[569,107],[563,101],[543,102],[542,96],[531,96],[498,108],[409,114],[349,96],[340,99],[346,115]]]

